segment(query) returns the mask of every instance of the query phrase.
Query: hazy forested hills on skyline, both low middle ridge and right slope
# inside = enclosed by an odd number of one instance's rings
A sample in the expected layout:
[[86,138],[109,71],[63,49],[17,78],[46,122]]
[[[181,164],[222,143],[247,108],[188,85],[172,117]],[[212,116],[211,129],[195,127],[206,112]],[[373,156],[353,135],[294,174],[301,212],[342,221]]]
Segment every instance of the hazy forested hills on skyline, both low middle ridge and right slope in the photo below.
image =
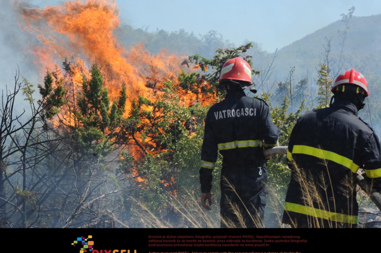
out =
[[[379,119],[381,119],[381,106],[374,96],[381,92],[379,81],[381,76],[380,23],[381,14],[369,17],[353,16],[347,24],[343,19],[339,19],[280,48],[275,54],[277,56],[273,64],[274,71],[268,80],[268,85],[272,86],[271,92],[275,93],[279,82],[287,81],[290,67],[295,66],[293,82],[297,84],[299,80],[308,78],[307,86],[313,96],[317,88],[315,85],[317,70],[324,63],[327,39],[330,39],[331,76],[335,76],[339,70],[343,72],[349,68],[355,68],[367,77],[371,92],[368,101],[370,107],[365,108],[367,111],[362,110],[360,115],[365,121],[372,123],[377,131],[381,131],[381,127],[378,126]],[[292,32],[292,27],[290,32]],[[212,57],[217,48],[238,46],[224,40],[218,31],[211,31],[206,35],[195,35],[185,30],[177,32],[157,30],[157,32],[150,33],[143,29],[134,29],[130,25],[121,25],[117,30],[117,36],[126,47],[142,42],[152,53],[166,48],[178,55],[199,54],[204,57]],[[275,52],[263,51],[255,42],[253,45],[249,54],[253,55],[254,68],[264,70]],[[342,55],[341,59],[340,55]]]

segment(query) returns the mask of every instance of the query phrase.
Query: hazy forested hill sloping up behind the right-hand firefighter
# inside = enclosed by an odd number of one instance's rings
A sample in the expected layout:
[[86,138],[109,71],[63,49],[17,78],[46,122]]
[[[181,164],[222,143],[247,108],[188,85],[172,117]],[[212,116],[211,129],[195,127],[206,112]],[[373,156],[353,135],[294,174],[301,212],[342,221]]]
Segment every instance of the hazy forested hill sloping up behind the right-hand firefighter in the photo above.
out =
[[[340,55],[343,44],[343,32],[346,24],[339,20],[311,33],[304,38],[278,50],[275,59],[274,74],[277,81],[286,81],[291,66],[295,66],[293,79],[295,82],[307,77],[311,90],[316,89],[317,70],[323,63],[327,41],[331,39],[331,77],[340,72],[355,68],[367,78],[370,96],[365,101],[367,106],[360,111],[360,117],[381,133],[381,104],[378,94],[381,92],[381,15],[369,17],[352,17],[346,30],[343,54]],[[340,64],[340,66],[339,66]]]

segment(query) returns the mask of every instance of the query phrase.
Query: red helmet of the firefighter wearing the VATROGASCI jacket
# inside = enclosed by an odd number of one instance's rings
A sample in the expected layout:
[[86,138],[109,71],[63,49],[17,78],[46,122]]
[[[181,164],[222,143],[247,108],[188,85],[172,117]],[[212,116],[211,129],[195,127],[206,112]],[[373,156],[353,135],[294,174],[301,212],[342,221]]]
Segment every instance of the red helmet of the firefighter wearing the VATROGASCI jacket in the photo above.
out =
[[235,57],[227,60],[222,66],[219,82],[223,79],[233,79],[251,83],[251,67],[245,60]]

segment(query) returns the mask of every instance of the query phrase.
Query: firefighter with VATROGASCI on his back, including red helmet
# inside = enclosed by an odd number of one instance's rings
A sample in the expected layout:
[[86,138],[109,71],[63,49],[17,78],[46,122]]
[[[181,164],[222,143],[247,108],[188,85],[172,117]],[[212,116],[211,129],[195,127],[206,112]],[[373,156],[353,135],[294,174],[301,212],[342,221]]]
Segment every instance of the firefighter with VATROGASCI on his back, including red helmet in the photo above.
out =
[[[212,170],[219,150],[223,156],[221,227],[262,226],[267,183],[263,150],[279,145],[281,132],[272,122],[266,102],[244,92],[244,89],[256,92],[253,86],[250,65],[239,57],[228,60],[219,78],[219,88],[227,90],[226,98],[209,109],[205,120],[200,169],[201,202],[210,210],[206,201],[211,204]],[[223,177],[228,179],[235,192]],[[239,207],[244,225],[229,203]]]

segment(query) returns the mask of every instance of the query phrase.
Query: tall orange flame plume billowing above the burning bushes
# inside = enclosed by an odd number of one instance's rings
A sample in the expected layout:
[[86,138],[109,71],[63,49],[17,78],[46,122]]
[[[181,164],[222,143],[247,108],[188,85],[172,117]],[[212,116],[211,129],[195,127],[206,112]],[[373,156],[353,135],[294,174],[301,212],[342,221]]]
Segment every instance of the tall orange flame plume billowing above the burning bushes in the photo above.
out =
[[[20,5],[20,13],[25,21],[24,29],[33,33],[42,47],[34,47],[36,63],[45,72],[56,65],[55,58],[64,59],[75,55],[87,61],[96,61],[105,75],[105,83],[111,99],[118,96],[122,82],[127,85],[127,110],[138,93],[149,94],[142,78],[142,72],[150,66],[162,77],[173,76],[180,70],[176,55],[165,51],[152,56],[142,44],[127,51],[115,38],[118,28],[118,8],[114,1],[88,0],[65,2],[60,6],[26,8]],[[82,63],[81,70],[72,70],[80,78],[74,80],[82,84],[83,71],[87,66]]]

